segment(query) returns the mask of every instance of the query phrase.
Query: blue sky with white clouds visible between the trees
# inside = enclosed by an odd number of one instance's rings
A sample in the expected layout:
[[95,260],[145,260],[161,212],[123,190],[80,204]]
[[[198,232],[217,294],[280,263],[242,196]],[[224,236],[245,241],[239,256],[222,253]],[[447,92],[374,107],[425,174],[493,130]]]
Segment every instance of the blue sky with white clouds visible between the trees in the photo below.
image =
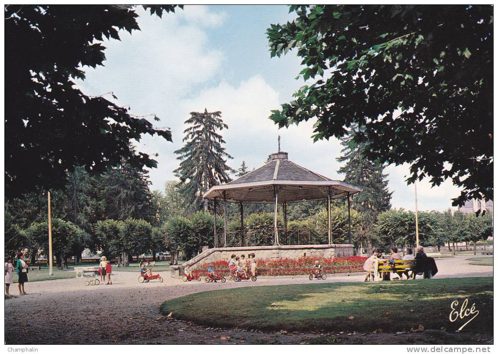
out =
[[[278,129],[268,119],[270,110],[291,99],[303,85],[295,80],[301,70],[295,52],[270,58],[265,35],[270,23],[292,19],[287,6],[186,5],[184,10],[150,16],[137,8],[141,31],[121,32],[121,41],[104,41],[107,60],[97,69],[85,68],[87,79],[78,86],[89,95],[113,91],[116,103],[131,107],[135,115],[156,114],[156,127],[170,127],[173,143],[145,136],[138,149],[158,153],[158,168],[150,171],[152,189],[163,190],[164,182],[176,179],[179,161],[173,153],[182,146],[183,122],[189,112],[222,111],[229,129],[222,132],[229,165],[238,169],[243,161],[249,169],[264,164],[268,154],[281,149],[289,159],[321,175],[337,174],[341,145],[336,139],[313,143],[314,121],[289,129]],[[106,96],[112,99],[110,96]],[[408,165],[389,166],[389,189],[394,208],[414,210],[414,187],[404,181]],[[459,190],[451,180],[431,188],[417,184],[419,210],[445,210]]]

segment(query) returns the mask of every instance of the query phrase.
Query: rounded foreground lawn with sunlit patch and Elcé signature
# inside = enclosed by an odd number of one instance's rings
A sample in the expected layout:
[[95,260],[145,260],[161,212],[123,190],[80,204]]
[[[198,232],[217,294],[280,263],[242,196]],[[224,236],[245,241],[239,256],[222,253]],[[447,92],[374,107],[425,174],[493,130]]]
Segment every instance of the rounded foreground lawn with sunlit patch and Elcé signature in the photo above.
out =
[[[161,312],[211,327],[372,332],[455,331],[450,304],[469,298],[480,314],[464,330],[493,332],[493,278],[253,286],[205,291],[168,300]],[[469,306],[470,307],[470,306]]]

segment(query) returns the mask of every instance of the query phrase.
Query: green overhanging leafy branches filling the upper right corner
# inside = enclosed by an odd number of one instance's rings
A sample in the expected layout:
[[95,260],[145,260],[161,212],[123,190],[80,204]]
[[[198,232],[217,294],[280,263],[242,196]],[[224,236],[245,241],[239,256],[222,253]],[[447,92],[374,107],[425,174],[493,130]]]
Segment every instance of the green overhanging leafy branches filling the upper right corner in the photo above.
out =
[[358,124],[371,160],[411,164],[408,182],[446,178],[454,205],[493,199],[490,5],[292,5],[267,29],[271,56],[296,49],[307,85],[272,111],[280,127],[317,119],[314,139]]

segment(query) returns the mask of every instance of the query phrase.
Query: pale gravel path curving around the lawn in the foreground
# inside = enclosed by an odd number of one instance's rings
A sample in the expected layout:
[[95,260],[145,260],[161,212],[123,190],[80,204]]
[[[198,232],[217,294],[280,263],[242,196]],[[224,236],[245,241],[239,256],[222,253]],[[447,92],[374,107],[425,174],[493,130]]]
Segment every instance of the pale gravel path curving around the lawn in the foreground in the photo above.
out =
[[[437,277],[493,276],[492,266],[469,265],[469,256],[437,260]],[[134,272],[113,273],[113,285],[84,286],[81,278],[28,282],[28,295],[5,300],[6,344],[298,344],[326,337],[322,333],[261,333],[246,330],[206,329],[159,313],[167,299],[199,291],[309,283],[306,276],[260,277],[256,282],[183,282],[161,272],[164,282],[140,284]],[[88,278],[86,278],[88,279]],[[85,280],[86,280],[85,279]],[[362,281],[363,275],[332,275],[327,282]],[[16,292],[13,286],[11,293]],[[106,330],[102,324],[106,323]],[[342,334],[347,343],[476,343],[467,334],[426,331],[422,334]],[[437,331],[439,332],[439,331]],[[19,336],[24,333],[25,336]],[[470,335],[470,334],[469,334]],[[386,336],[392,337],[388,342]],[[341,338],[341,337],[339,337]],[[437,338],[437,339],[434,339]],[[482,341],[490,338],[482,336]],[[441,342],[443,341],[443,342]]]

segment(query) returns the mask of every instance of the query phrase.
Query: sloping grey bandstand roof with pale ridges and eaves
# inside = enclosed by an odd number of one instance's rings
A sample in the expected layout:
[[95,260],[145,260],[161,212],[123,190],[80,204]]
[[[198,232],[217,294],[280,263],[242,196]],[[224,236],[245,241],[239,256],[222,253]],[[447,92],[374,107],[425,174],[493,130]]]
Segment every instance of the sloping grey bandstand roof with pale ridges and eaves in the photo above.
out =
[[273,202],[274,190],[278,190],[278,202],[324,200],[330,190],[331,198],[341,198],[362,191],[352,184],[333,180],[288,159],[288,154],[278,152],[270,155],[270,161],[257,170],[226,184],[211,187],[203,197],[223,199],[232,203]]

